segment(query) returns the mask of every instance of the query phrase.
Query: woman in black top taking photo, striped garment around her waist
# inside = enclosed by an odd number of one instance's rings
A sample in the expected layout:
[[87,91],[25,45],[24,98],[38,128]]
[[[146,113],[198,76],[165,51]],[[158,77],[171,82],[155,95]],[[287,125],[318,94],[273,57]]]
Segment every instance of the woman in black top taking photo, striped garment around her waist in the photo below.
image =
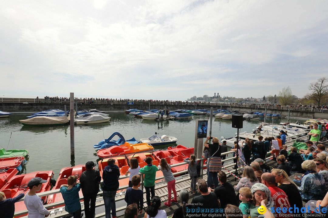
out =
[[218,186],[218,178],[217,173],[221,171],[222,163],[221,163],[221,144],[219,143],[219,139],[216,137],[212,138],[213,144],[208,143],[210,140],[210,136],[208,136],[204,142],[204,146],[210,149],[211,157],[208,160],[208,177],[207,177],[207,185],[211,186],[212,179],[214,181],[214,189]]

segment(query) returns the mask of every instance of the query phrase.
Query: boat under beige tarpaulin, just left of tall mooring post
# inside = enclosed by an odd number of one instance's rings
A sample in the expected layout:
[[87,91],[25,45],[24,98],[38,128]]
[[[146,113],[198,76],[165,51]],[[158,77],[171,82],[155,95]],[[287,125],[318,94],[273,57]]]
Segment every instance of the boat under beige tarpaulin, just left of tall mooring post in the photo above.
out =
[[33,117],[26,120],[19,120],[24,126],[63,126],[69,122],[66,116],[60,117]]

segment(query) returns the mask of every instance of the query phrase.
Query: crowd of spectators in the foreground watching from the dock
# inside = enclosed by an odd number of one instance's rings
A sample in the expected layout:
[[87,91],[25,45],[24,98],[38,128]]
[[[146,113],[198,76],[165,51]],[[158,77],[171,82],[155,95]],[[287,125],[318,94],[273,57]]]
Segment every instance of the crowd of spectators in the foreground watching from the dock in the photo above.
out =
[[[321,124],[319,124],[321,125]],[[324,126],[325,128],[326,126]],[[261,126],[259,127],[261,128]],[[322,125],[320,126],[320,129]],[[174,211],[173,217],[190,217],[192,214],[202,214],[202,217],[212,217],[213,214],[237,217],[258,217],[262,213],[258,210],[263,208],[265,217],[292,217],[293,214],[310,212],[301,210],[303,202],[306,205],[316,205],[318,213],[326,214],[328,209],[328,152],[323,144],[318,143],[320,130],[318,124],[313,125],[306,141],[307,149],[291,147],[287,152],[285,145],[286,136],[283,130],[276,138],[268,137],[263,141],[258,136],[254,142],[248,138],[231,149],[238,154],[235,159],[239,172],[242,173],[239,182],[232,186],[227,182],[227,176],[221,171],[222,159],[226,152],[226,144],[219,142],[216,137],[207,137],[204,143],[204,157],[207,159],[207,181],[198,179],[198,190],[196,190],[196,157],[191,155],[184,159],[188,164],[188,173],[191,179],[190,189],[183,189],[179,198],[175,189],[175,177],[171,171],[170,164],[166,159],[161,159],[158,166],[153,165],[153,159],[147,157],[147,165],[140,168],[136,158],[131,158],[129,175],[129,188],[126,190],[124,200],[127,203],[125,217],[137,217],[145,211],[145,218],[166,218],[165,210],[160,210],[161,199],[155,195],[155,176],[160,170],[167,183],[168,197],[164,206],[171,208],[171,204],[178,203],[178,210]],[[271,150],[271,151],[270,151]],[[277,167],[271,168],[265,163],[266,154],[271,153],[272,160],[277,161]],[[237,154],[234,154],[237,156]],[[115,196],[119,188],[118,178],[120,169],[115,160],[110,158],[104,168],[102,177],[99,170],[95,170],[95,163],[86,163],[86,171],[82,173],[77,181],[76,176],[69,176],[67,184],[60,187],[60,192],[65,202],[65,210],[73,218],[81,217],[81,204],[78,192],[82,190],[84,197],[84,211],[86,218],[95,216],[95,202],[99,190],[101,178],[103,183],[103,200],[106,218],[117,218]],[[144,188],[146,191],[147,208],[143,208],[143,192],[139,189],[141,177],[144,175]],[[302,176],[289,176],[293,173],[301,173]],[[47,182],[42,178],[32,178],[28,187],[30,191],[25,195],[24,203],[29,212],[29,217],[43,218],[49,216],[41,198],[36,195],[41,189],[42,183]],[[278,185],[277,185],[278,184]],[[189,202],[189,191],[195,194]],[[173,192],[173,199],[172,199]],[[237,194],[236,194],[237,193]],[[6,199],[4,193],[0,192],[0,218],[13,217],[14,203],[24,197],[20,194],[15,198]],[[286,210],[284,210],[286,208]],[[290,209],[291,208],[291,209]]]

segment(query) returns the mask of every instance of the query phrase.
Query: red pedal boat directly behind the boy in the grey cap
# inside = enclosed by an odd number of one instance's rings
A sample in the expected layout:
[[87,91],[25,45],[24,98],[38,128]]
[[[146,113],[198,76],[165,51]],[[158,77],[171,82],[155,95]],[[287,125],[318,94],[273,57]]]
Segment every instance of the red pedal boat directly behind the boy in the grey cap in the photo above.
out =
[[[53,178],[52,170],[37,171],[37,172],[12,176],[11,179],[8,180],[7,184],[0,191],[5,193],[7,199],[17,197],[20,193],[24,193],[26,195],[30,191],[27,184],[34,177],[40,177],[44,180],[47,180],[46,183],[42,183],[40,191],[38,191],[36,193],[50,191],[50,188],[51,188],[50,180]],[[41,197],[41,199],[42,199],[43,203],[45,204],[47,196],[43,196],[43,197]],[[24,204],[24,201],[16,202],[15,210],[16,211],[27,210],[26,206]],[[27,213],[24,215],[27,215]],[[24,216],[24,215],[20,215],[20,216]]]

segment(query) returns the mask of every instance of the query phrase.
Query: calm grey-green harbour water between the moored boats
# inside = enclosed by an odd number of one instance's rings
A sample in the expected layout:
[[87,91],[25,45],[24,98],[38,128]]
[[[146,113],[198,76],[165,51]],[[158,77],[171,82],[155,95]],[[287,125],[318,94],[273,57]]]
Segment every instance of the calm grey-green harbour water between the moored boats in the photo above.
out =
[[[75,159],[71,161],[70,127],[23,127],[19,120],[27,119],[26,116],[29,115],[31,114],[10,115],[9,118],[0,118],[0,148],[28,150],[28,164],[24,167],[23,173],[53,170],[55,179],[64,167],[85,164],[91,160],[97,161],[96,150],[92,145],[107,139],[114,132],[121,133],[125,139],[134,137],[137,140],[148,138],[157,132],[159,136],[176,137],[178,139],[177,144],[194,147],[196,119],[209,120],[209,116],[194,115],[192,120],[184,121],[144,121],[124,112],[113,112],[110,113],[110,117],[112,117],[110,123],[74,127]],[[280,121],[275,120],[275,122]],[[210,121],[208,123],[210,124]],[[244,121],[240,132],[250,132],[258,125],[258,120]],[[213,137],[219,139],[221,136],[233,137],[236,132],[237,129],[232,128],[231,120],[213,118]]]

